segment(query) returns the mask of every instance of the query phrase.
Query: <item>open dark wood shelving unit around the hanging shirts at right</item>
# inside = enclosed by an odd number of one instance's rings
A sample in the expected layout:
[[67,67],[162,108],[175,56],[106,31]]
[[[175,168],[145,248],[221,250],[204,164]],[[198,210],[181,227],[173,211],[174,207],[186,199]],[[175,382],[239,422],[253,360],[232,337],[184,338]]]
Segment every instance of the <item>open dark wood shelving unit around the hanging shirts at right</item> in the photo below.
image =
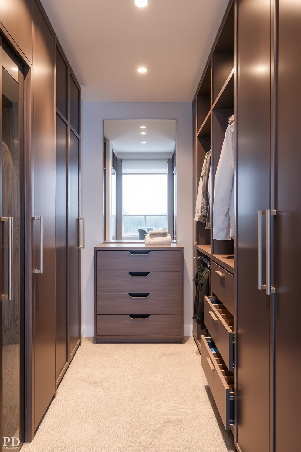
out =
[[[208,57],[202,78],[194,96],[194,212],[199,179],[205,155],[211,150],[211,219],[213,213],[214,177],[221,155],[222,143],[228,127],[228,120],[235,109],[236,68],[235,53],[235,9],[232,2],[224,16],[218,36]],[[211,229],[205,223],[194,221],[194,274],[202,255],[214,261],[232,275],[234,267],[233,240],[213,240]],[[214,295],[211,293],[211,295]],[[193,320],[193,335],[200,349],[202,331]],[[203,331],[204,334],[204,331]]]

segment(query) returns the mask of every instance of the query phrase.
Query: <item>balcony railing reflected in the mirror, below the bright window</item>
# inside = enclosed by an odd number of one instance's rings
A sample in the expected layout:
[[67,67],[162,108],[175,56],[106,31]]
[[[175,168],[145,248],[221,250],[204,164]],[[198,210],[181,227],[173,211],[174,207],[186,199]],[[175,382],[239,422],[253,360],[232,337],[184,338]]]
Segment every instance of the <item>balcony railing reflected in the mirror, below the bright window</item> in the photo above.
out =
[[139,236],[138,229],[146,231],[167,230],[168,217],[163,215],[122,215],[122,235]]

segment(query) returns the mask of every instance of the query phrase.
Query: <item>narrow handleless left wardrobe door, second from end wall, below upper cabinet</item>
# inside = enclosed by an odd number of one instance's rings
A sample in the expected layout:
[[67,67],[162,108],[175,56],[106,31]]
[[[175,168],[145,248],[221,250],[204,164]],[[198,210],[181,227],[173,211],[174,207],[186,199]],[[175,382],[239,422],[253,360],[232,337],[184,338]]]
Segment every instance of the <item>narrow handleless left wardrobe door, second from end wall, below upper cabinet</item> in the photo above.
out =
[[56,116],[56,379],[68,362],[67,126]]

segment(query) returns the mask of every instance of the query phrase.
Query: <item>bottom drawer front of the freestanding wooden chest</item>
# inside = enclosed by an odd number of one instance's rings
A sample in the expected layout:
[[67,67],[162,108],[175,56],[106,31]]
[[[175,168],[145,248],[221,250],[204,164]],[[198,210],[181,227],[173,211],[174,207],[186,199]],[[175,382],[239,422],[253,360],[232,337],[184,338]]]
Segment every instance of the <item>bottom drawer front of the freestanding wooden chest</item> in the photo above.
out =
[[97,315],[98,336],[181,336],[181,315]]

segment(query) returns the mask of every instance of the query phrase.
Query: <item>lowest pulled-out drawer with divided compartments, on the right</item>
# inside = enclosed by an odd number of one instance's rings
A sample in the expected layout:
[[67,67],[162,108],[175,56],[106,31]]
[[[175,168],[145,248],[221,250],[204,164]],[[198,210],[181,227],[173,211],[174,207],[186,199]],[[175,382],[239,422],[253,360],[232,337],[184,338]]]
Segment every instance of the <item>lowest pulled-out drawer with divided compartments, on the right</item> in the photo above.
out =
[[227,370],[211,338],[201,336],[201,364],[226,430],[234,424],[234,375]]

